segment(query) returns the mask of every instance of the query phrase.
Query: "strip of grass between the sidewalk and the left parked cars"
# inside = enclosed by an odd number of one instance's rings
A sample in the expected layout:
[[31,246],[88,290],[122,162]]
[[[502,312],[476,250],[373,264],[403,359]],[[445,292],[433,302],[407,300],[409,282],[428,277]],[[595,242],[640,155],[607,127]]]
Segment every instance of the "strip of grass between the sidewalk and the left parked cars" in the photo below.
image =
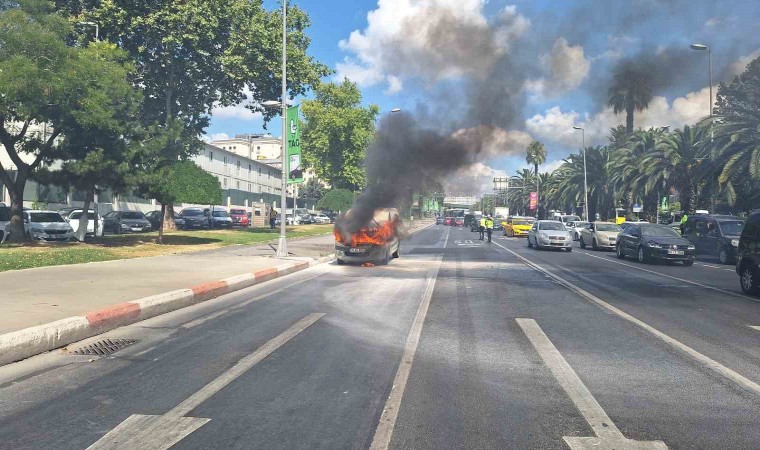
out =
[[[303,225],[288,228],[288,238],[328,234],[332,225]],[[243,228],[234,230],[176,231],[156,243],[158,232],[108,235],[86,243],[42,243],[0,245],[0,272],[33,267],[81,264],[116,259],[143,258],[211,250],[230,245],[253,245],[275,240],[280,230]]]

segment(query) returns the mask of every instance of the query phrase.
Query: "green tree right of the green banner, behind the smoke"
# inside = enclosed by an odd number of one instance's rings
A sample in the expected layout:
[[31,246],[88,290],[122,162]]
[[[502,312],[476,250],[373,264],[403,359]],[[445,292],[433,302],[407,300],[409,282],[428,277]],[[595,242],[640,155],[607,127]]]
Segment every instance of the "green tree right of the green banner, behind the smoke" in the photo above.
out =
[[320,84],[314,94],[301,106],[304,161],[336,189],[361,189],[366,183],[364,155],[380,109],[362,107],[359,88],[347,79]]

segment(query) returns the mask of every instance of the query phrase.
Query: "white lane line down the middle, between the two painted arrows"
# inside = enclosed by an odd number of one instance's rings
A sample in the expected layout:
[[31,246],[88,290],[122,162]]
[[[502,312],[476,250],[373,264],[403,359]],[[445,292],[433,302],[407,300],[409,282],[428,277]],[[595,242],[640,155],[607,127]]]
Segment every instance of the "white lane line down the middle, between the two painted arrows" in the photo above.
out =
[[383,414],[380,416],[375,436],[372,438],[371,450],[385,450],[391,443],[393,428],[396,426],[396,419],[401,408],[401,400],[406,389],[406,382],[409,380],[409,374],[412,371],[412,364],[414,363],[414,355],[420,342],[422,326],[425,324],[425,316],[427,316],[428,307],[430,306],[430,299],[433,297],[433,289],[435,289],[435,281],[438,278],[438,270],[441,267],[441,259],[441,257],[437,258],[436,265],[431,269],[428,276],[425,293],[422,295],[422,302],[420,302],[420,306],[417,309],[417,315],[414,318],[412,328],[409,330],[409,336],[406,338],[401,363],[398,366],[396,376],[393,378],[391,393],[385,402]]

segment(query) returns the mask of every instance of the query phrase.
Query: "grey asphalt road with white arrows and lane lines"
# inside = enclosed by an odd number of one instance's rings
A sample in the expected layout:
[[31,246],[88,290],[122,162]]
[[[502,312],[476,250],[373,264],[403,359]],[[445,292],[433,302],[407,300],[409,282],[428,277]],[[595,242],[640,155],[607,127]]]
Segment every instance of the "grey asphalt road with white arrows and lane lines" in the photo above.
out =
[[731,267],[443,226],[401,253],[2,367],[0,448],[758,448],[760,299]]

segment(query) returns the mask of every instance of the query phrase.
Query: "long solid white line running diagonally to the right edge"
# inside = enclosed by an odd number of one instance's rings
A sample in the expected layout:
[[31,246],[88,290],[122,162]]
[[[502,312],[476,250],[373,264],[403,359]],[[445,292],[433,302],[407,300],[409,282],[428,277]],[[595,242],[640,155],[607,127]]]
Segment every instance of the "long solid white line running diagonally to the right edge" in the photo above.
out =
[[[610,305],[609,303],[605,302],[604,300],[600,299],[599,297],[595,296],[594,294],[591,294],[590,292],[578,287],[577,285],[567,281],[566,279],[560,277],[559,275],[556,275],[554,272],[552,272],[549,269],[546,269],[527,258],[523,257],[522,255],[518,254],[517,252],[514,252],[506,247],[504,247],[501,244],[496,243],[499,247],[503,248],[504,250],[508,251],[509,253],[513,254],[515,257],[520,259],[522,262],[524,262],[527,266],[532,267],[533,269],[543,273],[544,275],[548,276],[549,278],[554,279],[557,283],[565,286],[566,288],[570,289],[571,291],[579,294],[582,297],[585,297],[589,301],[601,306],[602,308],[612,312],[613,314],[631,322],[632,324],[644,329],[645,331],[651,333],[654,335],[657,339],[660,339],[661,341],[665,342],[666,344],[674,347],[676,350],[681,351],[682,353],[686,354],[687,356],[692,357],[693,359],[697,360],[697,362],[705,365],[707,368],[713,370],[714,372],[718,373],[719,375],[728,378],[730,381],[736,383],[740,387],[756,394],[760,395],[760,385],[755,383],[754,381],[750,380],[749,378],[744,377],[743,375],[740,375],[739,373],[729,369],[728,367],[720,364],[719,362],[699,353],[698,351],[694,350],[693,348],[689,347],[688,345],[677,341],[673,339],[672,337],[668,336],[667,334],[663,333],[660,330],[657,330],[656,328],[647,325],[646,323],[642,322],[641,320],[633,317],[632,315]],[[617,261],[613,261],[617,262]],[[626,264],[627,265],[627,264]]]

